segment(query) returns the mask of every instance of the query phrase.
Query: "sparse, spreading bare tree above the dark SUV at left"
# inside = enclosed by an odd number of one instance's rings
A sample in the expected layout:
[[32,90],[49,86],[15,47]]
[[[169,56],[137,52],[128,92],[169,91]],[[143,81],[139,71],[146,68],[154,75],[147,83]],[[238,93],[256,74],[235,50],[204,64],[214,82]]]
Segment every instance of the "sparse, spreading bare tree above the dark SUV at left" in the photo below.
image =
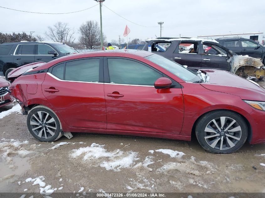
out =
[[48,31],[45,32],[47,38],[53,40],[54,42],[67,43],[71,45],[74,38],[74,28],[69,28],[68,23],[62,23],[58,21],[52,27],[48,26]]

